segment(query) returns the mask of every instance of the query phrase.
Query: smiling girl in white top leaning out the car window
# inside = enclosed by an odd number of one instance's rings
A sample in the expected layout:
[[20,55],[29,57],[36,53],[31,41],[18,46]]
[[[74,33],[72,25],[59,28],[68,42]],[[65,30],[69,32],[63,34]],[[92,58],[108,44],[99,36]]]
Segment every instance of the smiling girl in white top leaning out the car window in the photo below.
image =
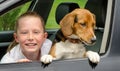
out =
[[49,52],[52,42],[47,39],[44,21],[35,12],[26,12],[16,21],[14,38],[1,63],[40,61]]

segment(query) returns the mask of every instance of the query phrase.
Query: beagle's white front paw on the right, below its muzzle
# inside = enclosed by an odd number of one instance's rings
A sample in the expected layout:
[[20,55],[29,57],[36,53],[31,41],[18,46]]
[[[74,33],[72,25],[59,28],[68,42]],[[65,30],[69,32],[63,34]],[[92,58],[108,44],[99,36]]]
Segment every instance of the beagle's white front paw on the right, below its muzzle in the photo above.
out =
[[87,51],[86,55],[92,63],[100,62],[100,56],[97,52]]

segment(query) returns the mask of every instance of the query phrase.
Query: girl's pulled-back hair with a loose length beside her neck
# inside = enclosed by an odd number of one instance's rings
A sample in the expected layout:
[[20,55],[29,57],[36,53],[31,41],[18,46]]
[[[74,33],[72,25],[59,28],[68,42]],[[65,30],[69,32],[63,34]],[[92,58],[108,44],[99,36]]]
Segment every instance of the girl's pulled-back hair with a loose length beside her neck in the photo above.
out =
[[[43,18],[42,18],[39,14],[37,14],[36,12],[28,11],[28,12],[22,14],[21,16],[19,16],[18,19],[16,20],[16,24],[15,24],[15,27],[14,27],[14,29],[15,29],[14,33],[17,33],[17,28],[18,28],[18,26],[19,26],[19,22],[18,22],[19,19],[24,18],[24,17],[27,17],[27,16],[32,16],[32,17],[38,17],[38,18],[40,18],[41,23],[42,23],[42,26],[43,26],[43,31],[45,32],[45,24],[44,24]],[[13,42],[9,45],[9,47],[8,47],[8,49],[7,49],[7,52],[9,52],[9,51],[10,51],[13,47],[15,47],[17,44],[18,44],[18,43],[17,43],[16,40],[14,39]]]

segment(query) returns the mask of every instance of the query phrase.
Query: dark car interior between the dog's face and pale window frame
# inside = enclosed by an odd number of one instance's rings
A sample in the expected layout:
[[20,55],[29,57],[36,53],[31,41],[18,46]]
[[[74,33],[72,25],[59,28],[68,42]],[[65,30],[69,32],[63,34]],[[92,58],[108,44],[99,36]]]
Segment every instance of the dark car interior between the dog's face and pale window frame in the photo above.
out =
[[94,46],[88,48],[99,53],[102,43],[102,37],[105,28],[106,12],[107,12],[107,0],[88,0],[85,8],[90,10],[96,16],[96,37],[97,42]]

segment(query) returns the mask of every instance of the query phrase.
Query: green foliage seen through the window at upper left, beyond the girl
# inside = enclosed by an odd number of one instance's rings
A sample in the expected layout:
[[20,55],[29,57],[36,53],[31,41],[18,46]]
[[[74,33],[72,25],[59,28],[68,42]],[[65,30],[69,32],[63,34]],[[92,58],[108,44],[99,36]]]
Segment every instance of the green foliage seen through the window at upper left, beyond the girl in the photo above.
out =
[[13,30],[15,20],[28,10],[30,4],[31,2],[28,2],[0,16],[0,31]]

